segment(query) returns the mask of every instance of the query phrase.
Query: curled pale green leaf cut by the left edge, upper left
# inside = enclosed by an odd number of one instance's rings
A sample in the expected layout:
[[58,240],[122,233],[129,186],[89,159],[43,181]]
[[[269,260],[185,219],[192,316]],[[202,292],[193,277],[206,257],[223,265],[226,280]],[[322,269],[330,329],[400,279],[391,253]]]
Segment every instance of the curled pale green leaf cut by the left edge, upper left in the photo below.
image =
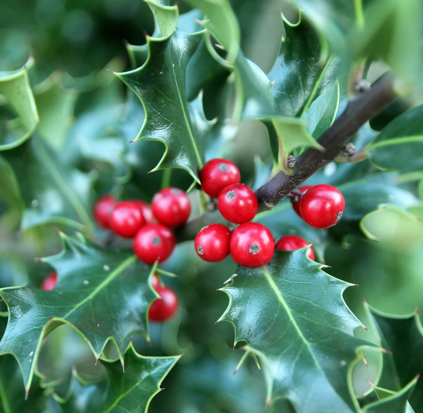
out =
[[30,58],[14,72],[0,72],[0,151],[25,142],[37,127],[39,117],[28,78]]

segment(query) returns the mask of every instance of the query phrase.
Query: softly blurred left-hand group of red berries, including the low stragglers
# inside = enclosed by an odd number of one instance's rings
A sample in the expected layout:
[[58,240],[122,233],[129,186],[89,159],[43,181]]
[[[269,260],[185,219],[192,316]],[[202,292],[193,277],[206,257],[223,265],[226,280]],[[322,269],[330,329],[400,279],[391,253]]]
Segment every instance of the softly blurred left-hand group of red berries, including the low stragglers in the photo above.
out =
[[[111,229],[121,237],[134,238],[132,249],[146,264],[162,262],[170,256],[176,245],[171,227],[184,224],[190,212],[187,194],[173,187],[157,192],[151,207],[139,199],[118,202],[113,195],[107,194],[99,198],[93,208],[99,226]],[[56,273],[49,274],[41,288],[54,289],[56,279]],[[161,284],[156,274],[151,284],[161,299],[153,301],[148,317],[153,321],[165,321],[178,310],[178,297],[173,289]]]

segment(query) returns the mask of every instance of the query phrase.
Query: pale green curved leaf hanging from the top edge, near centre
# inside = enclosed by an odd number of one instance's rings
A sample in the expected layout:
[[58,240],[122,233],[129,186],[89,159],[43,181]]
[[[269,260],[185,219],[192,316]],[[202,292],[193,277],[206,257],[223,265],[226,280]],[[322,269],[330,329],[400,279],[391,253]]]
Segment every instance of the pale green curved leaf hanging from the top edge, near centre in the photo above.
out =
[[241,33],[229,0],[187,0],[187,3],[203,12],[206,17],[204,27],[227,50],[226,59],[233,63],[239,52]]

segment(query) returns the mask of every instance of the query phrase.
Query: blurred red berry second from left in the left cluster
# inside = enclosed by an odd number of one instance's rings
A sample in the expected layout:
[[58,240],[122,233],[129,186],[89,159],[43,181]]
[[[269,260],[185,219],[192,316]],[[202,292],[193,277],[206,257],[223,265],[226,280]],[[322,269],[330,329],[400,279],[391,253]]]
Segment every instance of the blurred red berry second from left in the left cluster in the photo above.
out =
[[132,201],[116,204],[109,218],[110,228],[125,238],[132,238],[146,223],[140,207]]

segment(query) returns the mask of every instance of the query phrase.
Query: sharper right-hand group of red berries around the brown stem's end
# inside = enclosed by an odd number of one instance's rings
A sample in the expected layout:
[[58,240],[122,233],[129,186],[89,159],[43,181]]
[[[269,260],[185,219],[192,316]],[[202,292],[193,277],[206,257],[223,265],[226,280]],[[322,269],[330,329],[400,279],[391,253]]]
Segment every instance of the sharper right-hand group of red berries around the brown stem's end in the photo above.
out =
[[[222,224],[211,224],[195,237],[195,251],[205,261],[217,262],[229,254],[245,267],[259,267],[272,259],[276,249],[295,250],[309,243],[295,235],[282,237],[275,245],[271,232],[252,220],[258,211],[255,193],[241,184],[239,170],[226,159],[212,159],[200,173],[201,187],[211,197],[217,197],[217,208],[228,221],[240,224],[231,231]],[[341,218],[345,203],[341,192],[331,185],[302,187],[293,194],[297,214],[310,226],[328,228]],[[312,248],[308,256],[314,260]]]

